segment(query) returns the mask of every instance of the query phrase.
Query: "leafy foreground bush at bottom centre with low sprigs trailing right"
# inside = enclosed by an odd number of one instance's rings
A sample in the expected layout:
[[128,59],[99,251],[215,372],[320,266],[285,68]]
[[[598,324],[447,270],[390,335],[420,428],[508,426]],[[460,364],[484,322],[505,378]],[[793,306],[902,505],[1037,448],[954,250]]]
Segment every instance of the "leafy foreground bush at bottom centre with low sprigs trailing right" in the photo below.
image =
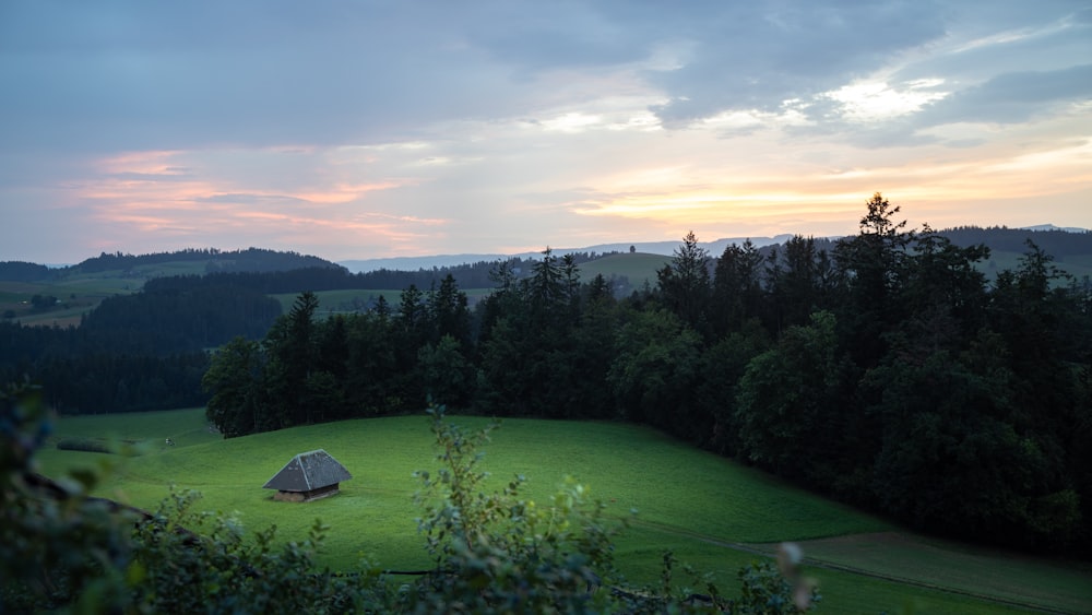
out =
[[808,611],[820,600],[815,583],[799,572],[795,545],[782,545],[776,564],[741,569],[738,598],[726,598],[712,575],[689,567],[685,570],[708,594],[676,590],[669,553],[661,587],[633,588],[614,565],[612,541],[627,523],[607,520],[605,506],[586,487],[567,478],[538,505],[520,497],[525,480],[517,475],[500,493],[487,494],[482,483],[488,473],[477,469],[479,449],[499,424],[466,434],[444,421],[442,406],[429,413],[441,469],[435,476],[417,472],[423,488],[416,500],[425,512],[418,529],[436,569],[403,588],[400,611],[748,615]]

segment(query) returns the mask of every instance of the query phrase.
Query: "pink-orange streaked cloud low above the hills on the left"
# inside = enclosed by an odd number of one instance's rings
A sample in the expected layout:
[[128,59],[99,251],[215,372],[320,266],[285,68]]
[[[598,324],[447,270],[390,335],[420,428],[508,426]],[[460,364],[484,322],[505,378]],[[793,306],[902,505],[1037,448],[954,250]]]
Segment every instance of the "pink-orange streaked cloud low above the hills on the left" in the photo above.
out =
[[[325,186],[271,190],[203,172],[200,161],[193,158],[200,158],[199,153],[152,151],[112,156],[98,161],[98,175],[73,189],[103,222],[136,233],[191,235],[202,240],[246,230],[273,241],[282,237],[287,247],[292,243],[331,241],[405,246],[419,244],[431,233],[417,228],[435,232],[449,222],[360,211],[359,203],[368,193],[396,189],[411,184],[407,180],[335,180]],[[358,206],[347,206],[354,203]]]

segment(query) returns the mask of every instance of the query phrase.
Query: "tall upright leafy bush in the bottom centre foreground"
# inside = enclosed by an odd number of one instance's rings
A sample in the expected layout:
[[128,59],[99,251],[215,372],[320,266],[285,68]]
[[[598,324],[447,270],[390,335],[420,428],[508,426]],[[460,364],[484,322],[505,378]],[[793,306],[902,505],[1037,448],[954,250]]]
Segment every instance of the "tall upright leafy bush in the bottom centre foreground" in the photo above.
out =
[[603,611],[607,594],[595,591],[619,579],[604,505],[569,478],[550,501],[520,497],[523,476],[500,492],[480,490],[478,448],[492,426],[464,434],[430,409],[442,468],[417,472],[417,520],[436,570],[405,592],[411,611],[465,613],[583,613]]

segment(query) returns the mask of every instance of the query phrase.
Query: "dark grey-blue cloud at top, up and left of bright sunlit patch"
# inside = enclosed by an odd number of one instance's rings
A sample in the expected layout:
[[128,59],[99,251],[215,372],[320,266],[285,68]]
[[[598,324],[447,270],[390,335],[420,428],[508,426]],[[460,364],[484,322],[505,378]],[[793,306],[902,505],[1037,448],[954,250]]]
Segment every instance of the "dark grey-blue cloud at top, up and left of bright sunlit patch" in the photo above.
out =
[[943,34],[928,2],[725,7],[732,10],[696,24],[701,38],[693,61],[650,78],[672,96],[654,107],[665,126],[688,126],[725,110],[774,111],[785,100],[835,90]]

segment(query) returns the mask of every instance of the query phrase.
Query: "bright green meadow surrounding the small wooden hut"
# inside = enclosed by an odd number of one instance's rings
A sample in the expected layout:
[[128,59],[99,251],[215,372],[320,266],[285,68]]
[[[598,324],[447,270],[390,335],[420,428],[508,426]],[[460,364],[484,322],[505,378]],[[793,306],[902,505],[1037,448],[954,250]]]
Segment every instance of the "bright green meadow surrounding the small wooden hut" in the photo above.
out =
[[[452,416],[468,428],[482,417]],[[276,524],[282,540],[301,537],[316,518],[331,527],[322,556],[352,568],[368,556],[391,569],[427,565],[416,533],[413,472],[435,470],[427,417],[356,419],[223,440],[202,409],[62,417],[64,437],[140,440],[139,457],[47,448],[52,476],[91,464],[114,465],[100,495],[154,508],[169,485],[203,494],[199,507],[237,515],[251,529]],[[165,443],[171,438],[174,447]],[[354,478],[342,494],[310,504],[273,501],[262,485],[288,459],[322,448]],[[1007,613],[1092,611],[1092,566],[927,540],[881,519],[796,489],[654,430],[617,423],[506,419],[485,449],[487,488],[515,473],[524,496],[543,500],[567,475],[591,488],[612,517],[638,510],[616,542],[620,567],[634,582],[658,578],[670,549],[681,563],[713,571],[728,592],[736,570],[797,541],[808,573],[819,580],[827,613]],[[680,583],[689,582],[681,572]],[[1007,602],[1006,602],[1007,601]]]

